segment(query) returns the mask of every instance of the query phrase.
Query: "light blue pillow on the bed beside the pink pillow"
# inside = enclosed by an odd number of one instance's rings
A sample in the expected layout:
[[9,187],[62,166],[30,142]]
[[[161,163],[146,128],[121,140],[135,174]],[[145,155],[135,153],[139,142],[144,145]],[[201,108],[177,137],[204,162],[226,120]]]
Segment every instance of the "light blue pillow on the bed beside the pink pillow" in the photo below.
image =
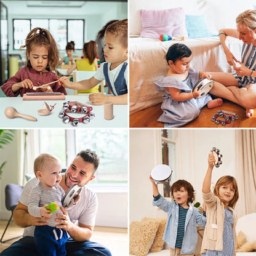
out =
[[206,25],[204,15],[186,15],[188,38],[208,38],[214,36]]

